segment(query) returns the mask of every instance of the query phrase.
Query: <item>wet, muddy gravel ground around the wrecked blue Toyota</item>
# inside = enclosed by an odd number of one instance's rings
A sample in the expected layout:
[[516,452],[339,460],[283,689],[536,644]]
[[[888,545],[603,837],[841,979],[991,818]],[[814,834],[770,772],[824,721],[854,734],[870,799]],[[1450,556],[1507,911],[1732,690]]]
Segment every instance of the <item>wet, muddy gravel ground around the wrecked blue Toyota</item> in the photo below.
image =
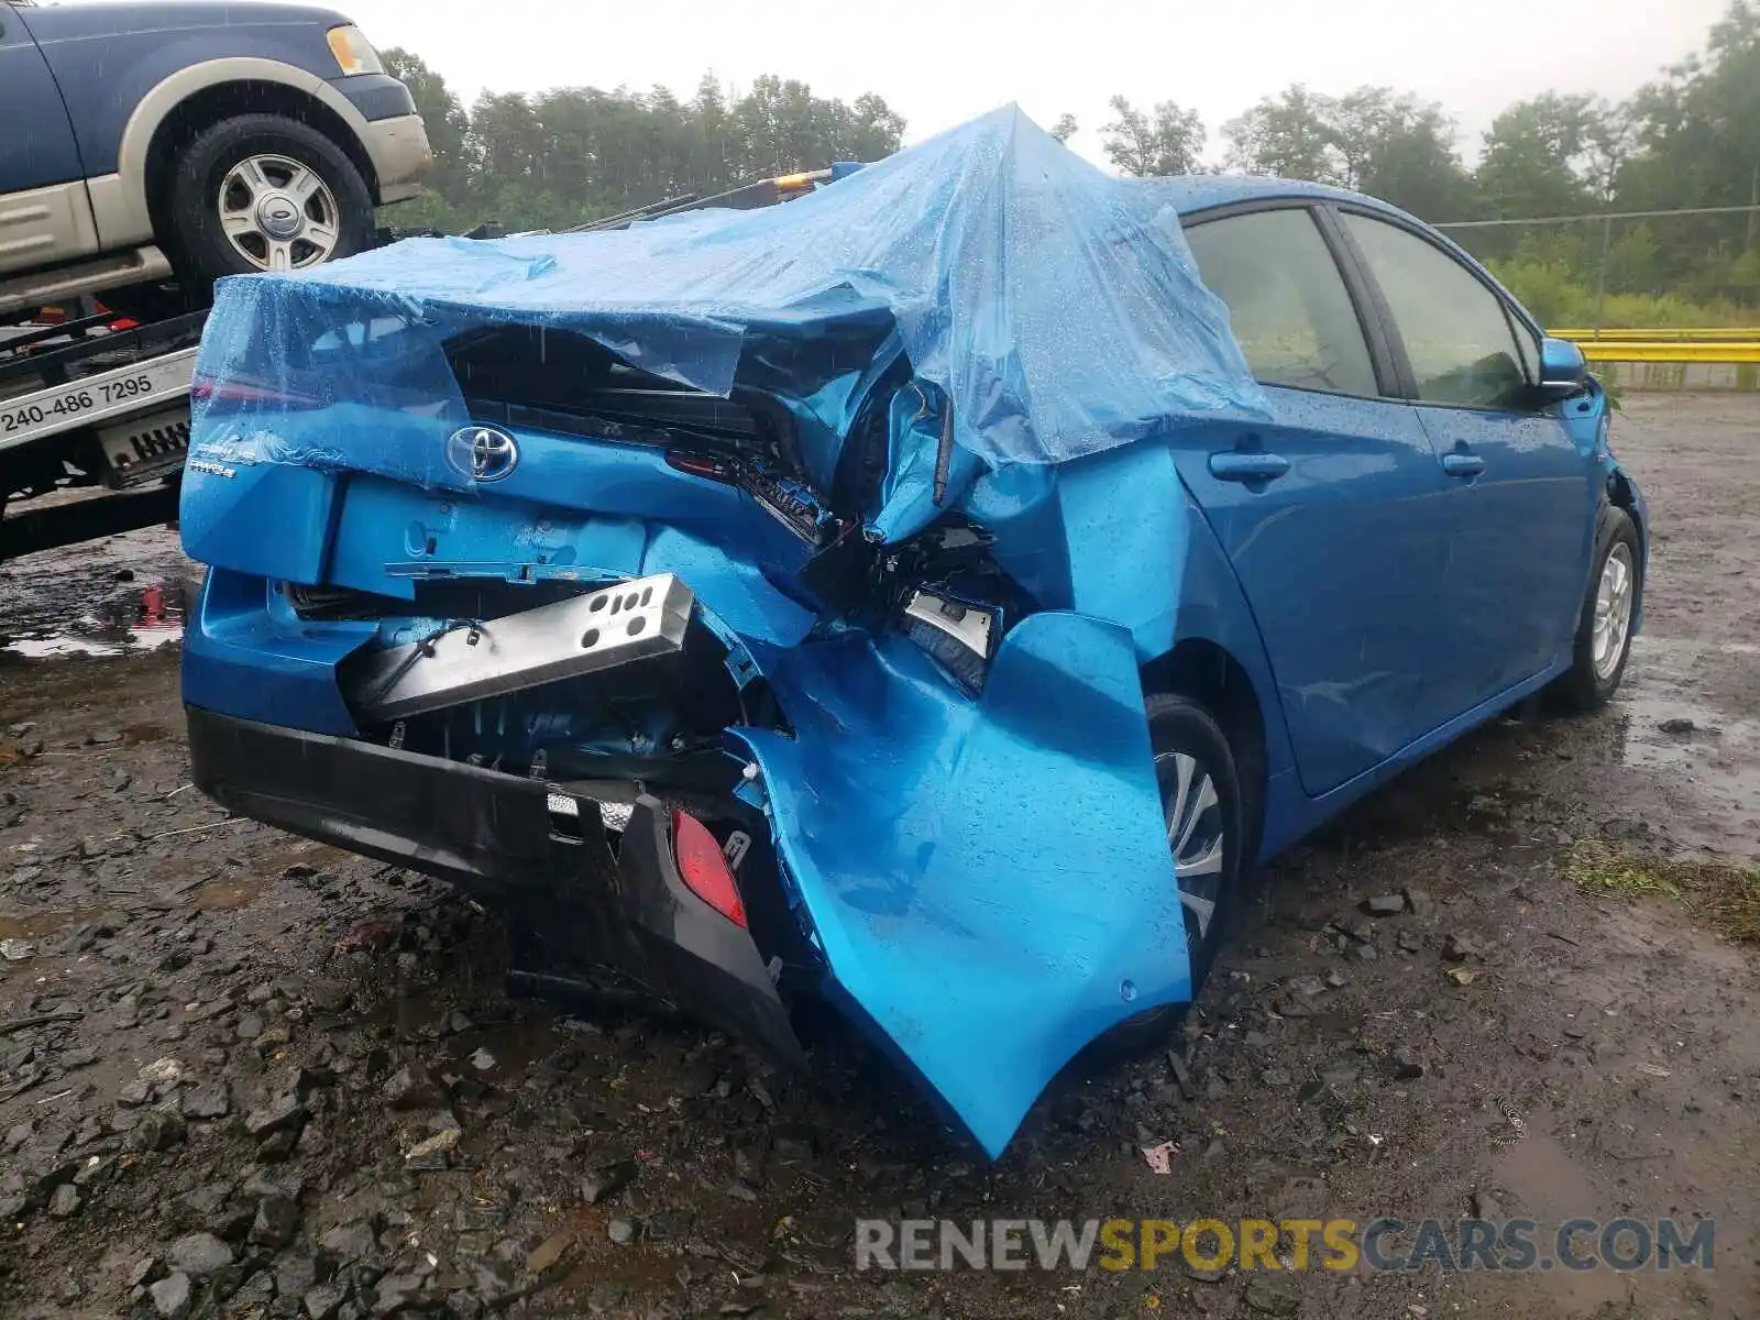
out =
[[[1077,1061],[996,1165],[847,1037],[806,1079],[509,1000],[442,885],[202,801],[171,533],[0,568],[0,1315],[1760,1315],[1760,961],[1632,892],[1760,861],[1760,400],[1633,398],[1616,438],[1656,528],[1619,702],[1278,859],[1170,1051]],[[1712,1218],[1716,1269],[852,1253],[857,1216],[1468,1214]]]

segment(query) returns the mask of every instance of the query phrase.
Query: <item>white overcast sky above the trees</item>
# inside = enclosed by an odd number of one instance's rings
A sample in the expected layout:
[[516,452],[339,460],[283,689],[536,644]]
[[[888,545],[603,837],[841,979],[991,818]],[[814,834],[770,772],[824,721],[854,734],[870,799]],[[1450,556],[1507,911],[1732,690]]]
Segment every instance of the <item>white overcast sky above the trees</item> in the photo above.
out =
[[671,86],[706,70],[878,92],[928,137],[1010,100],[1100,158],[1107,99],[1221,123],[1302,81],[1390,84],[1440,100],[1477,157],[1508,102],[1549,88],[1632,93],[1704,44],[1727,0],[333,0],[378,46],[405,46],[470,104],[484,88]]

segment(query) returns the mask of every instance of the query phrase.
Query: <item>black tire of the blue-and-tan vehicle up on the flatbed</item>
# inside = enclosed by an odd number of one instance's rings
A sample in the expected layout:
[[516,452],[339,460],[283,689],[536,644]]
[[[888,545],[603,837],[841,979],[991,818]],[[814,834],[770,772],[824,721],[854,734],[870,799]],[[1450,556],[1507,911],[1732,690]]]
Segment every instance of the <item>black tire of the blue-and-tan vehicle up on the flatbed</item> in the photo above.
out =
[[204,128],[178,155],[165,190],[178,283],[195,303],[213,297],[224,275],[257,271],[234,252],[220,231],[215,197],[238,162],[253,155],[282,155],[315,171],[336,199],[340,236],[329,260],[373,245],[373,195],[348,153],[317,128],[280,114],[239,114]]

